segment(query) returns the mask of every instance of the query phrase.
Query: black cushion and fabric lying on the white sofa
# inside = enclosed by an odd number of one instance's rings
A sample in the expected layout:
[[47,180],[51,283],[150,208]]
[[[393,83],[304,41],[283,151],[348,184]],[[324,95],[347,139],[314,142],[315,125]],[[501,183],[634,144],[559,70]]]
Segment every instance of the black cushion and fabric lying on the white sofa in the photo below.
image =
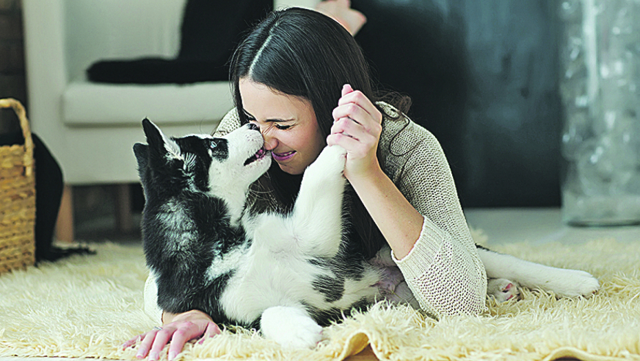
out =
[[189,0],[184,6],[177,58],[97,61],[87,78],[97,83],[198,83],[228,80],[228,60],[273,0]]

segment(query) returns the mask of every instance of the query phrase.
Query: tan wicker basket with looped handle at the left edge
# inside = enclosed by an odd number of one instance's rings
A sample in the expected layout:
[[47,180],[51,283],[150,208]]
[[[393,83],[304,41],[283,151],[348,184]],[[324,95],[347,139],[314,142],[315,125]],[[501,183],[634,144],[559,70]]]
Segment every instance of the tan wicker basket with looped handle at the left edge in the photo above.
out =
[[25,144],[0,146],[0,274],[34,264],[36,188],[33,140],[18,100],[0,99],[20,119]]

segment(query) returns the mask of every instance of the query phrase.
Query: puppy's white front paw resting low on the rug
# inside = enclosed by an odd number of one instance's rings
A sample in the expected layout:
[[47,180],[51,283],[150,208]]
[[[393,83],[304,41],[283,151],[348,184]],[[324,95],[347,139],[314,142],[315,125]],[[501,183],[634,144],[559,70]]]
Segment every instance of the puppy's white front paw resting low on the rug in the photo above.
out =
[[288,348],[312,348],[322,340],[322,327],[303,309],[276,306],[266,309],[260,320],[264,337]]

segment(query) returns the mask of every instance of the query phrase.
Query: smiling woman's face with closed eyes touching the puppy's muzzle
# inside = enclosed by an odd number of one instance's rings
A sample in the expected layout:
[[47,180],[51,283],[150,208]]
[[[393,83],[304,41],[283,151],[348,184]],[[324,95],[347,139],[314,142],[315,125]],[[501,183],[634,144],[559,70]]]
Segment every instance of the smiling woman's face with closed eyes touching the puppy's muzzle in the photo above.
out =
[[260,127],[273,160],[286,173],[302,174],[326,146],[311,102],[248,78],[240,79],[239,91],[244,112]]

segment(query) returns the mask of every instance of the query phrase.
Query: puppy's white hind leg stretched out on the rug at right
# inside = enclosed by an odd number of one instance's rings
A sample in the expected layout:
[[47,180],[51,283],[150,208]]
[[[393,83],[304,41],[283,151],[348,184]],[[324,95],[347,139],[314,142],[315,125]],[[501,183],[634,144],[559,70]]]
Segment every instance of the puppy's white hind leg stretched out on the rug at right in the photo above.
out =
[[561,297],[591,296],[599,289],[596,278],[584,271],[565,270],[478,248],[488,278],[506,278]]

